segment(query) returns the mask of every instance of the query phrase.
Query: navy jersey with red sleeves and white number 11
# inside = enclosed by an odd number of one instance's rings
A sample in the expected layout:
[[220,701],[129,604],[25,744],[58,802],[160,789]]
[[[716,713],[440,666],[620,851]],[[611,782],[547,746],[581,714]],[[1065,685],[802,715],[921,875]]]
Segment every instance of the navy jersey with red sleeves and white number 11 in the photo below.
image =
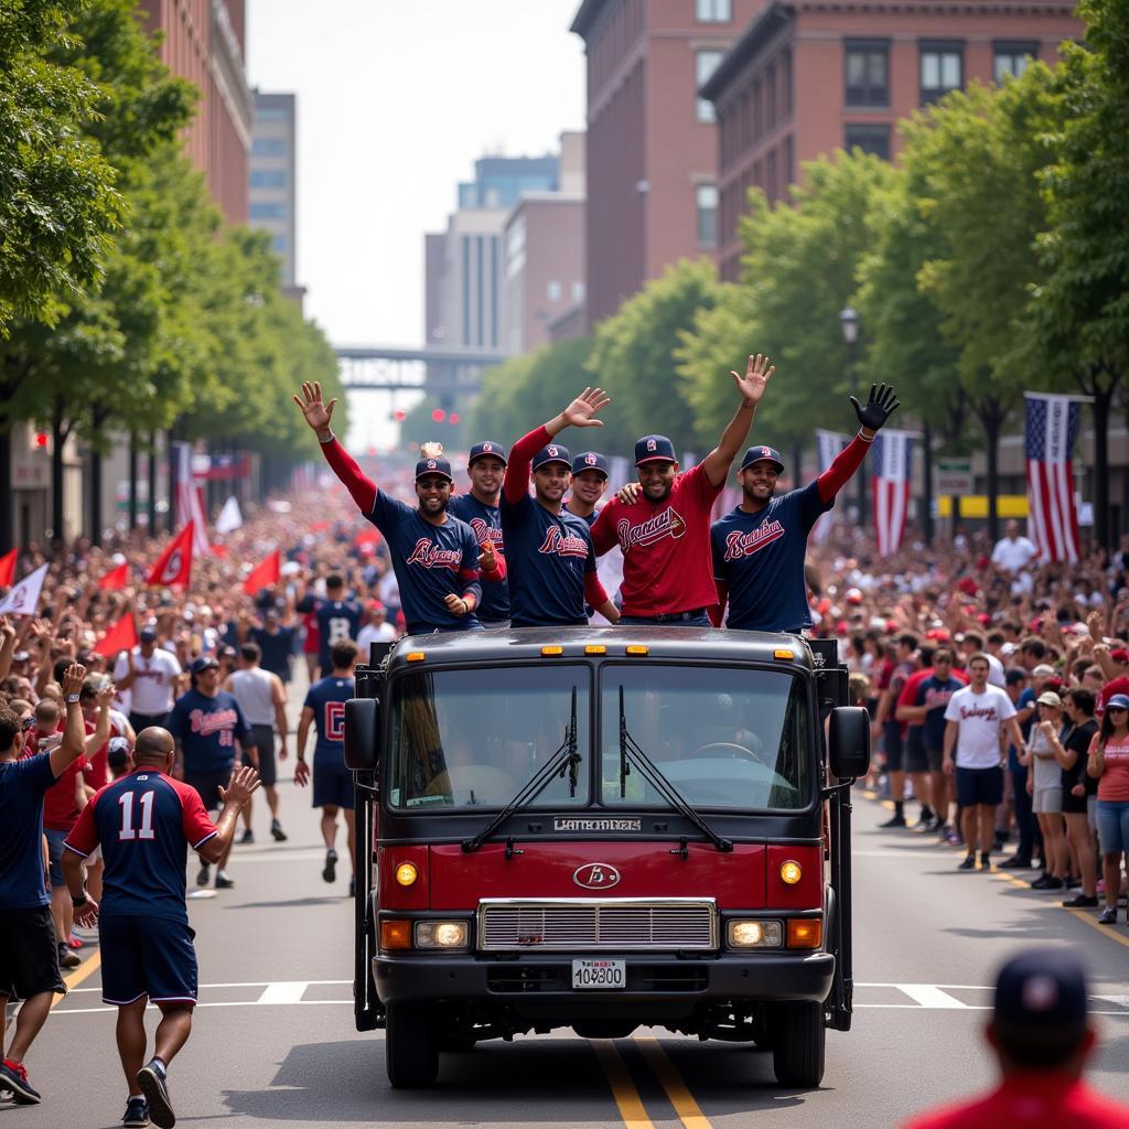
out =
[[67,847],[82,858],[102,847],[103,916],[170,918],[186,925],[187,849],[199,850],[215,834],[194,788],[142,768],[95,794]]

